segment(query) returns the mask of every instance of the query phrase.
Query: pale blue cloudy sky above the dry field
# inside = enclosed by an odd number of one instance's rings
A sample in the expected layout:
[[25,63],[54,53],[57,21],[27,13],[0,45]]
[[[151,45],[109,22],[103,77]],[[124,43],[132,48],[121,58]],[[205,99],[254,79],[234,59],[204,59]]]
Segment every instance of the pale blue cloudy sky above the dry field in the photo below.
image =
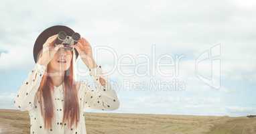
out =
[[[253,0],[2,3],[0,109],[15,109],[38,35],[66,25],[90,42],[109,74],[121,105],[107,112],[256,114]],[[76,68],[78,80],[90,79],[80,59]]]

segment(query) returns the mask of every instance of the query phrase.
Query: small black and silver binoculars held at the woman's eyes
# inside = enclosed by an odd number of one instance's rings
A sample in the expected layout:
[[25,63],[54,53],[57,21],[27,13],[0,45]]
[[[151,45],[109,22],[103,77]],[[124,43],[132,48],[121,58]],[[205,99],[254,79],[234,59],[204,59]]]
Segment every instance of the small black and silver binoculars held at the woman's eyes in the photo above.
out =
[[80,39],[80,34],[74,33],[72,36],[68,36],[65,31],[58,32],[55,45],[63,44],[65,49],[72,50],[72,45],[76,44]]

